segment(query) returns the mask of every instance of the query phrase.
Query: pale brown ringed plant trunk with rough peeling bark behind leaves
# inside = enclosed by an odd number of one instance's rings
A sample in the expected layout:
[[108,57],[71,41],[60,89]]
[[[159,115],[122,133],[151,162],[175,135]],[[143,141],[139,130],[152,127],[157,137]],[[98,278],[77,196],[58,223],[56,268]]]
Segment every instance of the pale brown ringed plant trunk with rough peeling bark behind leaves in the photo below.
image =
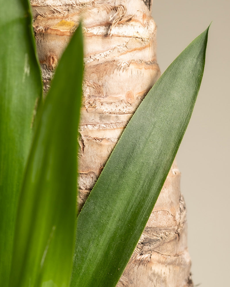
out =
[[[160,75],[150,0],[32,0],[44,89],[83,19],[85,74],[79,127],[78,206],[124,127]],[[116,4],[114,4],[116,3]],[[192,286],[185,204],[173,163],[139,243],[117,286]]]

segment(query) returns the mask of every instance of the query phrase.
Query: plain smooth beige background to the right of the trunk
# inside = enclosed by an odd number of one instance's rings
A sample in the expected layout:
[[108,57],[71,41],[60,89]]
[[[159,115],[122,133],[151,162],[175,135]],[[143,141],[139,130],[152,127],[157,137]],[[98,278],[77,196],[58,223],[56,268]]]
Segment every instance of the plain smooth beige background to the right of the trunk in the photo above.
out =
[[194,284],[230,286],[230,1],[154,0],[152,10],[162,72],[213,21],[203,81],[177,163]]

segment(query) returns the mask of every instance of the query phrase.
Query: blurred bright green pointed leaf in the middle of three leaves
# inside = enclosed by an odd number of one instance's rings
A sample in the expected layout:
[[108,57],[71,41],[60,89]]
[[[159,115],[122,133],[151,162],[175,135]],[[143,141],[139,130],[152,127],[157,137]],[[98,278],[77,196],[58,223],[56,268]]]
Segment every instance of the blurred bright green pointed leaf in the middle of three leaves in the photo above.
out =
[[12,287],[69,284],[82,77],[80,26],[60,60],[37,123],[17,215]]

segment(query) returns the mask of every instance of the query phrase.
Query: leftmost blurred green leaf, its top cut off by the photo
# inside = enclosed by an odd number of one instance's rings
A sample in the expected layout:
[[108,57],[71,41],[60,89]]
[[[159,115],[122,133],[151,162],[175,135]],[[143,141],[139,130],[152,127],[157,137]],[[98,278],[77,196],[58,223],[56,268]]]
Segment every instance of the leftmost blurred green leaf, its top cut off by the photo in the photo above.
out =
[[0,286],[8,286],[18,198],[42,95],[28,2],[0,8]]

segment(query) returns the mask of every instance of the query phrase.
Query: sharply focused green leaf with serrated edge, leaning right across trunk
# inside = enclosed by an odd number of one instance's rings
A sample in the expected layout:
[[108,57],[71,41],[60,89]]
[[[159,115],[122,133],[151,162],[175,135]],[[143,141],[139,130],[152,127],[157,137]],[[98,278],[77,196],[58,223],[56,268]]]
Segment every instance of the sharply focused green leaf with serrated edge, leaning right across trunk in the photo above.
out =
[[168,67],[127,125],[78,216],[72,287],[116,286],[196,101],[208,29]]

